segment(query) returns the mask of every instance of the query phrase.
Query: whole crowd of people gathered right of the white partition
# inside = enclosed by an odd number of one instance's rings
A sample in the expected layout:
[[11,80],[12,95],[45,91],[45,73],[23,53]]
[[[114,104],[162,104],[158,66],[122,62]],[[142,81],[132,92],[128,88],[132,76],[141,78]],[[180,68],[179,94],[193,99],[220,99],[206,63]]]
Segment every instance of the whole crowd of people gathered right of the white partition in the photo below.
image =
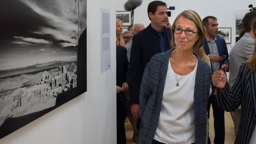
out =
[[224,111],[235,143],[256,143],[256,11],[230,53],[212,15],[185,10],[170,24],[165,2],[152,1],[148,18],[127,31],[116,20],[117,144],[126,143],[126,117],[136,143],[210,143],[211,105],[215,144],[225,143]]

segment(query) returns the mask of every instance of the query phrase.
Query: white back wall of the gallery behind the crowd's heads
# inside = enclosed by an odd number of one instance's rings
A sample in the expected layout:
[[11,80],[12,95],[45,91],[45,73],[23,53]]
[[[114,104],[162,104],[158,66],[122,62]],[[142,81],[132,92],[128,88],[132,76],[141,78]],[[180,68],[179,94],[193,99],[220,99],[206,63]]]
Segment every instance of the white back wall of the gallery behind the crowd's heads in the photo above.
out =
[[[150,23],[147,9],[148,4],[152,0],[143,0],[142,5],[135,9],[134,23],[142,23],[146,26]],[[256,7],[255,0],[215,0],[215,1],[201,1],[201,0],[181,0],[181,1],[167,1],[162,0],[167,3],[167,7],[175,7],[175,10],[171,11],[171,17],[169,21],[172,24],[175,17],[180,14],[180,12],[193,9],[198,12],[200,17],[203,19],[207,15],[213,15],[218,19],[219,27],[231,27],[232,37],[231,44],[228,44],[228,48],[235,44],[235,14],[236,9],[249,9],[248,5],[252,4]],[[117,3],[117,11],[124,11],[124,3],[127,0],[119,0]]]

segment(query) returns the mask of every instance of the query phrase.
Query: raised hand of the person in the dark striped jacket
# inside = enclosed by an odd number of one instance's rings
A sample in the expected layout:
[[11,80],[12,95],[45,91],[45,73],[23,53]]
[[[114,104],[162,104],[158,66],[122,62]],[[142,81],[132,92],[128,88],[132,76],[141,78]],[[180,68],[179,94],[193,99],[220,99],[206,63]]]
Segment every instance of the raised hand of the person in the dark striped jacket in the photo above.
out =
[[212,82],[216,88],[224,88],[227,82],[225,73],[222,70],[214,72]]

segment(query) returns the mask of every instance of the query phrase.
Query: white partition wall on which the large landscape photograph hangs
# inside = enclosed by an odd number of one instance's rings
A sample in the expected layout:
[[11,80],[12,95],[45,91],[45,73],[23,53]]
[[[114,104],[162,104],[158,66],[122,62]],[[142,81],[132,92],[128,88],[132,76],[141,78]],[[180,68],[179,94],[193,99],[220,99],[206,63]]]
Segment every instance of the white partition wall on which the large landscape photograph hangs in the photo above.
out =
[[[87,92],[0,139],[0,144],[116,143],[116,6],[87,0]],[[100,69],[100,9],[110,10],[111,69]],[[85,54],[86,55],[86,54]]]

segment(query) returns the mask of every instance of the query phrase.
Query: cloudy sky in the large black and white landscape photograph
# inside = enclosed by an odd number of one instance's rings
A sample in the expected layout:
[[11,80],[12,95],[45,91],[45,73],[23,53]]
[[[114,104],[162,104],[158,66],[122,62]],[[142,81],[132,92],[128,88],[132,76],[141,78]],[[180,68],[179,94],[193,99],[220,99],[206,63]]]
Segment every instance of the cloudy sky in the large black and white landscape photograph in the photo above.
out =
[[0,3],[0,70],[76,60],[86,27],[85,0],[8,0]]

